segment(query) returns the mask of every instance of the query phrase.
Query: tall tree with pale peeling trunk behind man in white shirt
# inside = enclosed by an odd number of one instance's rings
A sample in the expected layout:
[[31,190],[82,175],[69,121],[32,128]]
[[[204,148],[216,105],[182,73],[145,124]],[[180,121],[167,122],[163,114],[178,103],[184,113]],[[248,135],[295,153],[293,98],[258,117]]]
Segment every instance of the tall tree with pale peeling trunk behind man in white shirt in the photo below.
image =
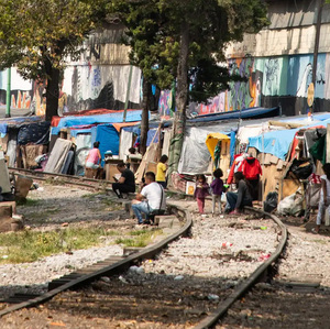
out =
[[242,41],[244,33],[256,33],[268,21],[263,0],[160,0],[160,9],[170,18],[167,31],[179,48],[170,174],[177,169],[184,141],[189,69],[223,62],[229,42]]

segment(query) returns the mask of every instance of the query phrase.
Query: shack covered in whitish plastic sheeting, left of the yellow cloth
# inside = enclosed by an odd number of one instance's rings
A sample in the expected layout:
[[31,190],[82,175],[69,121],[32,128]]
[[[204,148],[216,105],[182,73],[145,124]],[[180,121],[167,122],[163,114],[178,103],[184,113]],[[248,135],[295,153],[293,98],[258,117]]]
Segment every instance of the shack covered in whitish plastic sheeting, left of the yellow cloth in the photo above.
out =
[[210,125],[186,128],[178,172],[180,174],[190,175],[206,173],[211,160],[210,152],[206,144],[208,134],[213,131],[226,135],[230,134],[231,130],[232,127],[226,127],[223,124],[219,127]]

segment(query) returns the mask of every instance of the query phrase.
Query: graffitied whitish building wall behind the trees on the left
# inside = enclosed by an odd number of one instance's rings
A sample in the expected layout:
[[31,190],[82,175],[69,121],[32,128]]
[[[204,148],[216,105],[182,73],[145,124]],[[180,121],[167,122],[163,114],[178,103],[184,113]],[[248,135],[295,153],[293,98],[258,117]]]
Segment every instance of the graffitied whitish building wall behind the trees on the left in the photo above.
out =
[[[123,109],[127,97],[129,108],[140,108],[141,72],[132,67],[131,89],[128,95],[130,48],[121,44],[124,28],[106,26],[85,43],[78,61],[68,62],[59,94],[59,112],[106,108]],[[0,105],[6,105],[7,70],[0,72]],[[12,68],[11,107],[45,113],[45,84],[23,80]]]

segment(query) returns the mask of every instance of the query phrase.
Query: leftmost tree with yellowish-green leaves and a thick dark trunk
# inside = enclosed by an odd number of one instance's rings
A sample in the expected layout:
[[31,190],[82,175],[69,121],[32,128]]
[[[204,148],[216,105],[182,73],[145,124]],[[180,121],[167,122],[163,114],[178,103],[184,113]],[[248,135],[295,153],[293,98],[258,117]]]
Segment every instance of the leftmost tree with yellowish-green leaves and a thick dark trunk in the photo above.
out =
[[16,66],[26,79],[46,80],[46,120],[57,114],[67,58],[82,51],[103,17],[103,0],[0,0],[0,69]]

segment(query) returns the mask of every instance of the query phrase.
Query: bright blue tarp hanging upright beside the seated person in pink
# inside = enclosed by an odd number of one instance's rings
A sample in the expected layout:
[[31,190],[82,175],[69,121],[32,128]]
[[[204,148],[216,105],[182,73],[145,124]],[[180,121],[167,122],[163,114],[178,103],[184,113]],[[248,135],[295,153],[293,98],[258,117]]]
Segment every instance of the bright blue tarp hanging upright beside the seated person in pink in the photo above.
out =
[[[105,153],[111,151],[113,155],[119,154],[119,133],[112,124],[99,124],[96,127],[96,141],[100,142],[102,166],[105,165]],[[94,143],[94,141],[91,142]]]

